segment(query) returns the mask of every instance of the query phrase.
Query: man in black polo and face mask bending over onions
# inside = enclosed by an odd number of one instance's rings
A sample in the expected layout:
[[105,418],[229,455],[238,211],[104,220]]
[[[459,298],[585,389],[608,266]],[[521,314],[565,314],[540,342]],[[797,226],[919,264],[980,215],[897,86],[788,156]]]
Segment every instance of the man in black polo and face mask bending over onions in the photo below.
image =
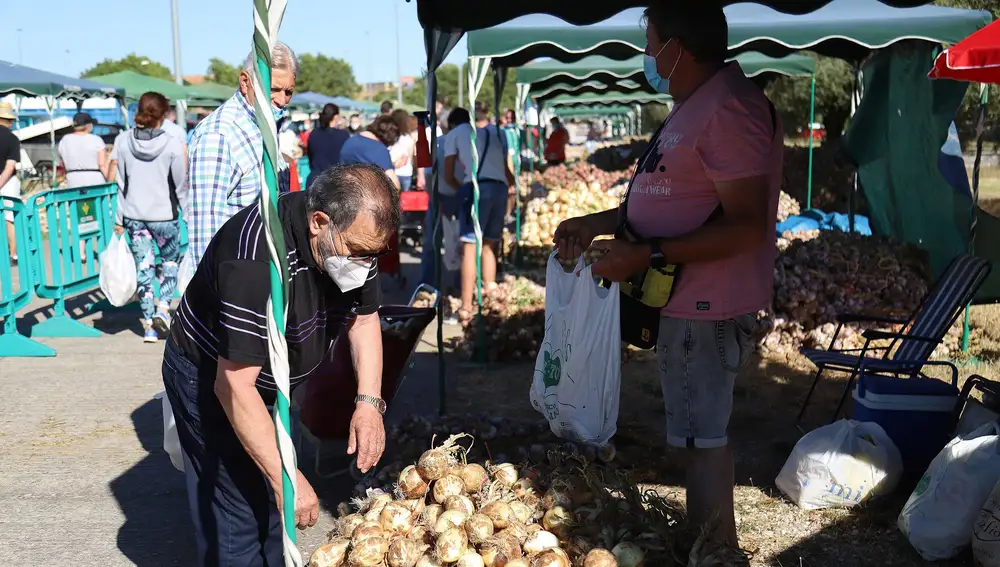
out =
[[[367,472],[385,449],[382,303],[376,258],[399,226],[399,197],[381,167],[337,165],[309,191],[278,199],[289,264],[285,312],[294,391],[350,341],[357,396],[347,453]],[[271,261],[260,205],[229,219],[181,299],[162,375],[184,456],[197,565],[280,566],[282,462],[271,415],[277,397],[266,327]],[[319,502],[300,470],[295,523],[316,524]]]

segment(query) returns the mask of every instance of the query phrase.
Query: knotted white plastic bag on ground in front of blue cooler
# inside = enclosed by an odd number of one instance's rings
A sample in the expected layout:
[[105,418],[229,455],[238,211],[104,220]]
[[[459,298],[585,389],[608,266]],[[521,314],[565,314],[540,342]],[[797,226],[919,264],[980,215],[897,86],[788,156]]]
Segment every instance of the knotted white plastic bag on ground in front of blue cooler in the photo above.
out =
[[774,483],[800,508],[848,508],[891,492],[902,474],[899,449],[881,426],[842,419],[799,439]]

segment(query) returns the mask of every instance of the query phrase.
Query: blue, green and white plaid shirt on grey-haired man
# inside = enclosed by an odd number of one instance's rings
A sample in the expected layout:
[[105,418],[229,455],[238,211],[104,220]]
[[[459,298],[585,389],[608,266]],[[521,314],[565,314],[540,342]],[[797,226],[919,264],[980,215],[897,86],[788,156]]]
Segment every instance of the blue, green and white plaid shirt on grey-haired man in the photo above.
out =
[[[264,142],[253,107],[237,92],[205,117],[188,145],[188,254],[201,261],[212,236],[261,190]],[[278,160],[279,167],[287,167]]]

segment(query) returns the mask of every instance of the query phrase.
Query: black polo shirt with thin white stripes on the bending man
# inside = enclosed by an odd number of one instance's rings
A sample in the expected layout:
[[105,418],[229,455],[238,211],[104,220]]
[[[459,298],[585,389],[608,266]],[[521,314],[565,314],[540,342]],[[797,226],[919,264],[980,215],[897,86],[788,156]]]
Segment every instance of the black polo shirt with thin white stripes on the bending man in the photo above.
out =
[[[368,281],[344,293],[316,263],[309,247],[306,192],[278,199],[288,249],[289,376],[294,388],[322,361],[334,339],[356,315],[378,311],[382,301],[378,264]],[[270,259],[260,205],[251,205],[212,237],[170,327],[170,338],[199,368],[204,385],[215,380],[219,356],[262,366],[257,389],[272,403],[276,387],[267,344]]]

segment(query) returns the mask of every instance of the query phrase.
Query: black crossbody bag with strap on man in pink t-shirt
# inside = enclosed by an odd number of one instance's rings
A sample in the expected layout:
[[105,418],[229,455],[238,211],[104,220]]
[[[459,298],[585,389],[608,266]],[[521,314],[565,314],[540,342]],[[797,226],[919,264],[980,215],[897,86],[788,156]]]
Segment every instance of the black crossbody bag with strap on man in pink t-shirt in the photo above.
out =
[[[767,101],[768,109],[771,111],[771,125],[774,135],[778,134],[778,117],[774,110],[774,105]],[[660,133],[670,123],[670,118],[660,126],[649,140],[649,146],[639,158],[639,164],[632,172],[632,179],[629,181],[628,190],[622,199],[619,207],[618,228],[615,230],[615,238],[633,243],[648,243],[649,239],[642,237],[628,225],[628,199],[632,194],[632,184],[635,183],[635,176],[639,172],[639,167],[645,162],[650,151],[656,147],[656,140]],[[706,223],[722,216],[722,205],[719,205],[709,215]],[[625,281],[618,284],[620,300],[620,323],[622,341],[636,348],[648,350],[656,347],[660,333],[660,310],[663,309],[670,300],[670,295],[677,286],[677,278],[681,275],[681,266],[667,264],[663,268],[649,268],[636,274],[632,274]],[[610,282],[605,282],[610,286]]]

